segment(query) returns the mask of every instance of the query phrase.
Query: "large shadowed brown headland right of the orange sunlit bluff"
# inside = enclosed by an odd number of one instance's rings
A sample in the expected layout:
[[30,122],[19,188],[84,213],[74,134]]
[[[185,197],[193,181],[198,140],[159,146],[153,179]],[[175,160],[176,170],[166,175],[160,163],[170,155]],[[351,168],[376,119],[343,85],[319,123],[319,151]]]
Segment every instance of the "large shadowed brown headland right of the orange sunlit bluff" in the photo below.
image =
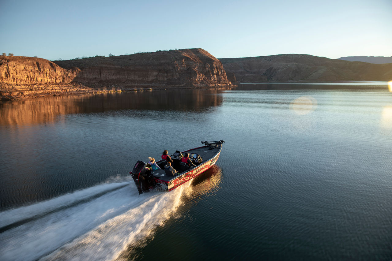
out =
[[54,61],[61,67],[77,67],[74,81],[87,85],[120,86],[221,86],[230,85],[222,63],[203,49],[92,57]]

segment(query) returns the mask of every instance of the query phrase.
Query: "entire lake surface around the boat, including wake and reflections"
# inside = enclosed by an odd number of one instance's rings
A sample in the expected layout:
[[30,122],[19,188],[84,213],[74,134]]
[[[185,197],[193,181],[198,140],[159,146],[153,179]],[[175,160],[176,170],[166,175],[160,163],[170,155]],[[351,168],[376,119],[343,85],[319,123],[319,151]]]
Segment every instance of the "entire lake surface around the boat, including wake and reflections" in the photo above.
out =
[[[392,259],[385,82],[54,96],[0,116],[2,260]],[[138,195],[137,160],[220,139],[212,169]]]

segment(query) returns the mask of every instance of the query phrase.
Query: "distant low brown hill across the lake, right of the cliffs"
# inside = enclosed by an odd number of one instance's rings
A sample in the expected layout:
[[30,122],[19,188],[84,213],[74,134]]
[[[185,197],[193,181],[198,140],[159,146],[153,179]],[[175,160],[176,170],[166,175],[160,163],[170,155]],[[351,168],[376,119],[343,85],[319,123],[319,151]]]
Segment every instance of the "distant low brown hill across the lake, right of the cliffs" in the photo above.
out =
[[339,82],[392,80],[392,63],[348,62],[308,54],[279,54],[220,61],[239,82]]

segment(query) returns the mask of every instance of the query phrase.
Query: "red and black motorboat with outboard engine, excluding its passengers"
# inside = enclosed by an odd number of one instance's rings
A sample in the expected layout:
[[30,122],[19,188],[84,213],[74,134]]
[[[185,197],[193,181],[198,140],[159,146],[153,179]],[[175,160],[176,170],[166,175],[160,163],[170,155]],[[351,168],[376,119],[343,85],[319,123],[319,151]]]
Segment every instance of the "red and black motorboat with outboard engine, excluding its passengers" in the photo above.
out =
[[[223,140],[201,141],[204,144],[202,147],[182,152],[176,150],[171,155],[173,159],[172,167],[178,172],[176,174],[164,169],[166,165],[164,159],[156,161],[161,169],[152,170],[150,164],[138,161],[129,173],[138,188],[139,194],[149,192],[150,190],[170,191],[211,168],[218,160],[224,142]],[[188,169],[185,163],[181,163],[181,159],[186,152],[189,153],[189,158],[196,165],[195,167],[191,166]]]

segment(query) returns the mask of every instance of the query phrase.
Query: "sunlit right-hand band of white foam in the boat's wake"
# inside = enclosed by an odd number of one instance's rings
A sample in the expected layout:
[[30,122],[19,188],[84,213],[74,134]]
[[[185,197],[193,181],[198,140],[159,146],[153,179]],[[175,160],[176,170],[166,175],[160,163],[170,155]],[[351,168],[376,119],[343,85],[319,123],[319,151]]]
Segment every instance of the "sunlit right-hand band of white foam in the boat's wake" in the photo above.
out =
[[116,216],[75,239],[42,260],[112,260],[138,241],[151,235],[181,205],[189,184],[171,192],[146,198],[142,204]]

